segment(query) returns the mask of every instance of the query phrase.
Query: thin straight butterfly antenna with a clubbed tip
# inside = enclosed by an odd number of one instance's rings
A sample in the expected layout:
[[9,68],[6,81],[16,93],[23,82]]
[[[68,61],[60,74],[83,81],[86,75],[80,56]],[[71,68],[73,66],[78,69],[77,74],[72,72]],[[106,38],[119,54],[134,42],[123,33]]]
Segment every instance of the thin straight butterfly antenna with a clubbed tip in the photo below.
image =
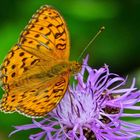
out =
[[91,41],[87,44],[87,46],[84,48],[84,50],[82,51],[82,53],[80,54],[80,56],[78,57],[78,61],[80,60],[80,58],[83,56],[83,54],[85,53],[85,51],[87,50],[87,48],[95,41],[95,39],[101,34],[101,32],[103,32],[105,30],[105,27],[102,26],[100,27],[99,31],[96,33],[96,35],[91,39]]

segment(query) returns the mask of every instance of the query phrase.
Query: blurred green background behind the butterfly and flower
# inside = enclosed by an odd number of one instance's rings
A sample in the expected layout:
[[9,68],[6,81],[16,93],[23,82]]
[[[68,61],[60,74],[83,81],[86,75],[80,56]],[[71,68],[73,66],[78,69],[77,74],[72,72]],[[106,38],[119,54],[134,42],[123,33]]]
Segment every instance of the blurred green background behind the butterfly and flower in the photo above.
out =
[[[17,42],[20,32],[42,5],[52,5],[67,22],[71,38],[71,60],[94,37],[100,26],[106,30],[90,45],[89,65],[108,64],[110,71],[137,78],[140,87],[140,1],[139,0],[3,0],[0,5],[0,63]],[[0,90],[0,96],[3,91]],[[137,120],[139,121],[139,120]],[[26,140],[31,131],[7,138],[12,126],[30,123],[19,114],[0,112],[0,140]],[[33,132],[32,132],[33,133]]]

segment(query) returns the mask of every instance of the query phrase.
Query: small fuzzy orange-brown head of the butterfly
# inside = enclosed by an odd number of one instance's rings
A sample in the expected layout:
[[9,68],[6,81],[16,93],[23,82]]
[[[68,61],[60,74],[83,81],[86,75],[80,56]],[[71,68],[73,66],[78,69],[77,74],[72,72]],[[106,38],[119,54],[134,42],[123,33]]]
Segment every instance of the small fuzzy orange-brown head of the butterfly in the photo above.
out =
[[77,74],[80,72],[82,65],[79,62],[73,61],[70,63],[70,72],[72,75]]

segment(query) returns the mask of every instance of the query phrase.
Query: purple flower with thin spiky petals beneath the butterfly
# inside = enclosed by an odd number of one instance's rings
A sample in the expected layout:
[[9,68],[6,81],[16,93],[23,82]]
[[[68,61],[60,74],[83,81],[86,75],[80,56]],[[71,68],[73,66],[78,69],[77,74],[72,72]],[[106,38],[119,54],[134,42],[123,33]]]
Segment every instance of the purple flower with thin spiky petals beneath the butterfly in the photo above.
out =
[[[30,135],[30,140],[130,140],[140,138],[140,125],[123,118],[140,117],[135,104],[140,101],[140,91],[134,87],[135,79],[126,88],[126,79],[110,73],[107,65],[99,70],[84,60],[77,84],[69,87],[60,104],[42,121],[16,126],[15,132],[40,128]],[[84,76],[87,73],[87,76]],[[86,79],[84,79],[87,77]],[[130,112],[130,111],[129,111]]]

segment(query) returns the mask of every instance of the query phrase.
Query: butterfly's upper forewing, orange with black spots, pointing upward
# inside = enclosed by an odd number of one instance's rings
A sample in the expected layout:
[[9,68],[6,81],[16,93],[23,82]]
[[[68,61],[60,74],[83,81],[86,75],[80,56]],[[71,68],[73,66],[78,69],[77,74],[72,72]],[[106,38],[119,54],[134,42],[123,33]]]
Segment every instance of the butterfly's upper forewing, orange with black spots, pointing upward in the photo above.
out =
[[54,8],[41,7],[22,32],[18,45],[41,59],[68,60],[70,44],[64,19]]

